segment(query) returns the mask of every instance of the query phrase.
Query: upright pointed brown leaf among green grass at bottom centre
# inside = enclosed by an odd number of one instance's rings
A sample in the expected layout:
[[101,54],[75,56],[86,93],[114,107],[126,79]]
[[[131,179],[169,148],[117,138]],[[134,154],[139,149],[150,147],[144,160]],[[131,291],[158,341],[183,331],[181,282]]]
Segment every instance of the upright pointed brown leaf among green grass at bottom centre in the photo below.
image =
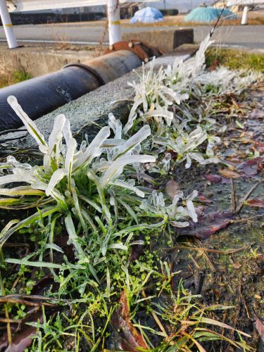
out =
[[111,323],[115,329],[115,348],[121,351],[137,352],[137,348],[149,349],[137,329],[130,320],[130,311],[127,303],[127,294],[122,291],[119,300],[120,306],[112,315]]

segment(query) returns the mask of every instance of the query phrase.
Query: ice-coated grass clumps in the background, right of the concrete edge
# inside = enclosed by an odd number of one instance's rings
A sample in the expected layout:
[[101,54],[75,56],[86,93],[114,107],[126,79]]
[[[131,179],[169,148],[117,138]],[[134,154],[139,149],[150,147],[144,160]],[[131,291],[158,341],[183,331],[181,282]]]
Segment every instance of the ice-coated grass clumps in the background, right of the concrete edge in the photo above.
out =
[[[123,134],[132,134],[141,125],[151,126],[153,143],[144,142],[145,151],[156,150],[160,145],[168,151],[177,153],[177,163],[186,161],[186,168],[191,160],[201,165],[216,163],[215,144],[220,137],[215,136],[217,128],[215,120],[210,118],[213,104],[210,99],[221,94],[240,93],[250,84],[261,80],[259,73],[244,70],[217,68],[206,70],[206,49],[212,44],[210,34],[201,42],[199,50],[193,58],[182,61],[176,58],[173,65],[154,70],[152,62],[149,70],[143,65],[139,82],[129,83],[134,88],[132,105]],[[189,99],[203,102],[207,99],[208,109],[191,110]],[[210,106],[212,108],[210,109]],[[167,158],[161,161],[161,167],[169,170]]]

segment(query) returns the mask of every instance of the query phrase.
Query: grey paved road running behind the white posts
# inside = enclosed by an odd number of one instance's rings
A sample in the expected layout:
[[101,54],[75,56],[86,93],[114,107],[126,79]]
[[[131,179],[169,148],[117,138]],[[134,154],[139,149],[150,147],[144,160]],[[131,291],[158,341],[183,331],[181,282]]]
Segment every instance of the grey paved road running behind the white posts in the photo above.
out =
[[[96,44],[101,40],[104,28],[102,23],[63,24],[63,25],[22,25],[14,26],[18,39],[30,41],[80,42],[80,44]],[[170,30],[168,27],[122,27],[122,32],[142,32],[148,30]],[[194,27],[194,40],[201,42],[210,30],[208,25]],[[0,40],[5,39],[0,27]],[[227,46],[244,46],[249,49],[264,50],[264,26],[223,26],[215,33],[215,41]],[[103,42],[108,42],[106,34]]]

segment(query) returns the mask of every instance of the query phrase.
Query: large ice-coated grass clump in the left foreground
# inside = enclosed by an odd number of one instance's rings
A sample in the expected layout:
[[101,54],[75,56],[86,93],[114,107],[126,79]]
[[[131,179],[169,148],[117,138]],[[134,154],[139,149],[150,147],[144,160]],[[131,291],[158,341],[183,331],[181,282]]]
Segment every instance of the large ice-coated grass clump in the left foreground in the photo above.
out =
[[[106,258],[109,249],[128,249],[129,243],[123,244],[121,239],[122,234],[127,235],[130,230],[119,231],[119,217],[122,222],[127,219],[130,225],[131,222],[139,225],[139,214],[144,213],[140,204],[144,192],[150,194],[151,190],[137,185],[130,175],[133,172],[137,174],[140,165],[156,161],[155,157],[140,153],[142,142],[151,135],[149,125],[140,128],[132,137],[123,139],[120,120],[111,114],[109,125],[102,127],[90,144],[83,141],[78,147],[70,122],[64,115],[56,117],[46,141],[14,96],[8,97],[8,103],[37,142],[43,154],[43,164],[20,163],[13,156],[8,156],[6,163],[1,163],[0,184],[3,188],[0,194],[4,196],[0,199],[1,208],[37,207],[39,211],[25,220],[7,225],[1,232],[0,245],[3,246],[14,232],[36,225],[44,218],[49,218],[54,225],[61,219],[68,233],[68,244],[73,244],[80,263],[89,265],[96,276],[94,265],[100,262],[100,257]],[[111,130],[113,138],[109,138]],[[21,182],[27,185],[21,185]],[[18,187],[4,187],[15,183],[19,184]],[[170,221],[180,218],[194,220],[189,203],[186,206],[187,210],[180,213],[175,208],[174,213],[170,213]],[[157,212],[157,216],[161,215],[158,209]],[[144,218],[148,216],[149,213],[144,213]],[[147,227],[148,222],[142,226]],[[77,235],[81,229],[89,241]],[[58,250],[53,243],[50,246],[51,252]]]

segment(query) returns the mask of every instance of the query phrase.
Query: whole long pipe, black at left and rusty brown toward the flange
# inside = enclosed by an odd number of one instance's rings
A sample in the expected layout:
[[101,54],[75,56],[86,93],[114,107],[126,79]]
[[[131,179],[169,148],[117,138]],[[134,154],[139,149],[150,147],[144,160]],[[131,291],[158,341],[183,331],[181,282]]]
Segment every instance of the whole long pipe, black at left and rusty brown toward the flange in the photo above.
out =
[[129,73],[142,64],[127,50],[94,58],[84,64],[67,65],[59,71],[0,89],[0,131],[18,128],[20,119],[6,99],[14,95],[25,112],[36,120],[80,96]]

